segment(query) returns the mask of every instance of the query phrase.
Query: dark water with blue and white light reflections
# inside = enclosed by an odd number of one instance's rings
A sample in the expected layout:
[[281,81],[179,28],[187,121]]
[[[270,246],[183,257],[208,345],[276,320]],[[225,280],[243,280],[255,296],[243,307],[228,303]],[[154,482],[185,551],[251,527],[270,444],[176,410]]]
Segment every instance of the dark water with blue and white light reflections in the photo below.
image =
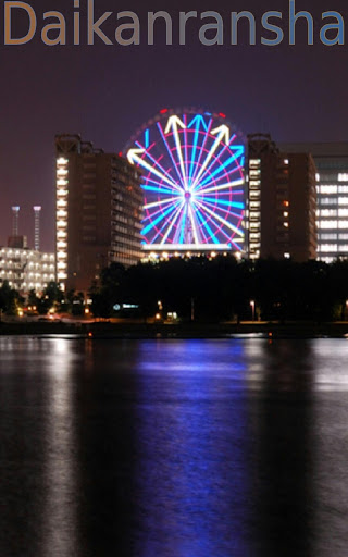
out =
[[347,555],[347,341],[0,338],[1,557]]

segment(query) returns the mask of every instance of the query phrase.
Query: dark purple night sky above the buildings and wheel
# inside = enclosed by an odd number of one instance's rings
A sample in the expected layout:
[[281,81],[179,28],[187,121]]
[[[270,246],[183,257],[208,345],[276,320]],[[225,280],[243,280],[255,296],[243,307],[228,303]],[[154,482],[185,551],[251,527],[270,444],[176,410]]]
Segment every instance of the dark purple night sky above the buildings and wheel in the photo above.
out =
[[[70,16],[73,0],[28,0],[42,27],[42,12],[58,10]],[[306,45],[306,26],[298,24],[297,44],[288,46],[287,0],[96,0],[96,13],[130,10],[138,13],[144,33],[141,45],[47,47],[37,38],[21,47],[1,45],[1,145],[0,145],[0,245],[11,232],[11,206],[21,205],[20,233],[33,245],[32,207],[42,206],[42,249],[53,249],[54,159],[57,133],[80,133],[96,147],[120,151],[135,131],[165,107],[202,107],[224,112],[244,133],[270,132],[275,140],[347,140],[348,45],[325,47],[319,39],[321,13],[336,10],[348,24],[344,0],[297,0],[296,9],[315,16],[315,44]],[[3,2],[2,2],[3,4]],[[80,0],[82,13],[86,0]],[[45,8],[45,9],[44,9]],[[146,45],[148,11],[166,10],[177,21],[179,10],[216,10],[226,20],[229,12],[249,10],[258,20],[268,10],[284,11],[281,23],[284,44],[276,47],[199,44],[198,29],[208,21],[192,23],[188,44],[164,46],[157,33],[156,45]],[[1,7],[1,12],[2,12]],[[103,27],[112,36],[116,15]],[[18,20],[16,30],[23,22]],[[277,23],[279,24],[279,22]],[[245,25],[245,29],[246,24]],[[83,16],[82,41],[86,42]],[[246,34],[240,29],[240,42]]]

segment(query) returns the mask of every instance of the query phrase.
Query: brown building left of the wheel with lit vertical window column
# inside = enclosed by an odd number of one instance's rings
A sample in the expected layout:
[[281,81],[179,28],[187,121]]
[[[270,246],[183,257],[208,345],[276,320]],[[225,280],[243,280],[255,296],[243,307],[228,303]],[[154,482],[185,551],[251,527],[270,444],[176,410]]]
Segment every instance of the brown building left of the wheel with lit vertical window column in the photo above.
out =
[[142,191],[139,171],[78,135],[55,137],[57,280],[87,292],[112,262],[141,259]]

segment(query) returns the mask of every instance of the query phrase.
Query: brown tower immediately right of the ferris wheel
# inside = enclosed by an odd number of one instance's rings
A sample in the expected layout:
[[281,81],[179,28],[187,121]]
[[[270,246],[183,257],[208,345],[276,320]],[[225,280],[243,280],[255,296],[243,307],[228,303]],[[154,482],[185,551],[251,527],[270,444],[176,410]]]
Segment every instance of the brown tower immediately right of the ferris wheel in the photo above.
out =
[[247,251],[250,259],[316,257],[315,164],[282,152],[270,135],[248,136]]

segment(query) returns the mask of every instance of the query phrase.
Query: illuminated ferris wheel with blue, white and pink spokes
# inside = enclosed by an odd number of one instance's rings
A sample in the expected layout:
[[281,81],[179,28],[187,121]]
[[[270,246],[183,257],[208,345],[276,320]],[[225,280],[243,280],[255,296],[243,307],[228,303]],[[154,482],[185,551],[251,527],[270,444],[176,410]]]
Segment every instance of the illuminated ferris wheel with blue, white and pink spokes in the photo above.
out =
[[245,146],[224,114],[163,110],[127,158],[142,175],[145,250],[243,249]]

